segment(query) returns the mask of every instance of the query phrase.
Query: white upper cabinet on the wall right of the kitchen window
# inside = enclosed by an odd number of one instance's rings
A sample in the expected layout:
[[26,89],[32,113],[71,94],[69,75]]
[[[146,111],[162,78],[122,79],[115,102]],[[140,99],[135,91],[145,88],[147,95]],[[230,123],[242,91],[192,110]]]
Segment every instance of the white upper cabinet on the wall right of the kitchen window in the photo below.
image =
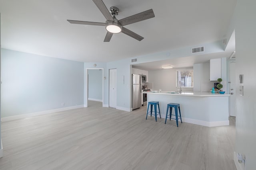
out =
[[210,60],[210,81],[217,81],[221,78],[221,59]]

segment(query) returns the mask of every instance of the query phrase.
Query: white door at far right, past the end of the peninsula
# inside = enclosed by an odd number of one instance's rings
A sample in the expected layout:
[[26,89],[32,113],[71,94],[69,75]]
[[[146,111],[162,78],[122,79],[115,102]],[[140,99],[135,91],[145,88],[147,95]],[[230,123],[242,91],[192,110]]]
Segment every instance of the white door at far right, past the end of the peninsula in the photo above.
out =
[[236,63],[229,63],[230,116],[236,116]]

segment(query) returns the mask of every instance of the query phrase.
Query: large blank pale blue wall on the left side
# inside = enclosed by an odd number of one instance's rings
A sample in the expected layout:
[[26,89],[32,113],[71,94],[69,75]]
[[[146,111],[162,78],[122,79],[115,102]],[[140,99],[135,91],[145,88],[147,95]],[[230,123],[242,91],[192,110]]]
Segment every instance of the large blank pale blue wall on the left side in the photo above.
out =
[[83,105],[84,63],[7,49],[1,53],[2,117]]

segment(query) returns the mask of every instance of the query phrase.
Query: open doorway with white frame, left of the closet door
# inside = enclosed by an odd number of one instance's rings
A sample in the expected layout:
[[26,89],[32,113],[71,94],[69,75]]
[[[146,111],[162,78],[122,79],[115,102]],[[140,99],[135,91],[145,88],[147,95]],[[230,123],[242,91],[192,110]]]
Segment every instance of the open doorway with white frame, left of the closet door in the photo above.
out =
[[[98,72],[100,72],[101,75],[99,75]],[[98,78],[101,78],[102,81],[91,79],[91,77],[95,78],[95,75],[98,75],[99,76]],[[85,107],[88,107],[88,99],[102,102],[102,107],[104,107],[104,68],[86,68],[86,80],[87,81],[86,81],[86,99],[85,99],[86,106]],[[92,81],[92,82],[90,83],[89,81]],[[98,84],[94,84],[96,83],[96,81],[98,81]],[[97,90],[99,91],[99,89],[100,89],[100,92],[102,92],[102,94],[99,94],[97,92]],[[92,95],[89,96],[90,94]],[[100,100],[99,98],[102,98],[102,100]]]

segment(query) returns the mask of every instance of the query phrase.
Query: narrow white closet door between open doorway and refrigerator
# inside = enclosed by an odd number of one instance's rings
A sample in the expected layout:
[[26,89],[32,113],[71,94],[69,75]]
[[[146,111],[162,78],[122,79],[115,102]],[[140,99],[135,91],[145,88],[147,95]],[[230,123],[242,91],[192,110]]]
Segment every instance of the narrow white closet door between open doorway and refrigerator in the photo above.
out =
[[109,107],[116,108],[116,69],[109,70]]

